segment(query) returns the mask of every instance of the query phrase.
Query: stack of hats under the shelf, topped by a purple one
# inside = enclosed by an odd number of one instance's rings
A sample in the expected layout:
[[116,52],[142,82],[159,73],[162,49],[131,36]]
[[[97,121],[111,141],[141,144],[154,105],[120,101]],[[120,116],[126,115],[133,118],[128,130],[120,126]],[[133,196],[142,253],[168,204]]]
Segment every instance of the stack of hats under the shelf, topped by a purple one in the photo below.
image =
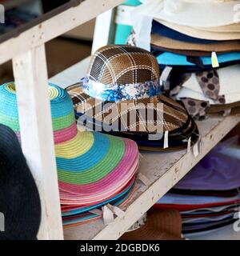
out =
[[[240,158],[227,155],[222,142],[178,182],[154,208],[179,210],[185,234],[215,230],[236,222],[240,206]],[[239,149],[238,149],[239,151]]]

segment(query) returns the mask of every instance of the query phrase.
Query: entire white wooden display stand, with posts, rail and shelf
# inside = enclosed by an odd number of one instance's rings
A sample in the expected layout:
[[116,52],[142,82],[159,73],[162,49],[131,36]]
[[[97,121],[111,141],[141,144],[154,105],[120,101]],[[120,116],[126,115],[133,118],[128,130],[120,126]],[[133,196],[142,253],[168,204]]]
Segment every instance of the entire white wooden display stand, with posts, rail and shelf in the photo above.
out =
[[[70,4],[44,15],[30,26],[15,34],[0,39],[0,64],[13,60],[16,82],[18,112],[22,134],[22,150],[38,185],[42,201],[42,223],[38,239],[62,239],[62,219],[58,194],[58,178],[54,158],[54,138],[50,117],[48,80],[46,70],[45,43],[84,22],[97,18],[95,36],[102,27],[102,38],[94,41],[94,47],[110,42],[110,22],[113,11],[124,0],[70,1]],[[102,22],[99,24],[99,21]],[[106,22],[106,23],[104,23]],[[78,82],[86,72],[89,58],[50,79],[58,86]],[[81,73],[82,72],[82,73]],[[65,230],[66,239],[117,239],[154,202],[206,155],[234,126],[239,117],[209,118],[198,122],[202,134],[202,150],[197,158],[186,150],[174,154],[144,153],[140,172],[150,179],[150,186],[138,183],[130,205],[126,207],[125,218],[116,218],[114,223],[104,226],[102,221]],[[239,235],[240,238],[240,235]]]

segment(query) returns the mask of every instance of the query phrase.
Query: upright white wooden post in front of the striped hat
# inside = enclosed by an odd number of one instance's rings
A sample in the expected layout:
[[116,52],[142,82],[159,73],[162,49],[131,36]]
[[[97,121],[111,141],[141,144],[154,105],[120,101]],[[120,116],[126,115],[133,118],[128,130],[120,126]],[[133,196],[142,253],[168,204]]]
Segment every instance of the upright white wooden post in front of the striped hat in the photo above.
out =
[[63,239],[45,45],[13,58],[22,151],[42,202],[38,239]]

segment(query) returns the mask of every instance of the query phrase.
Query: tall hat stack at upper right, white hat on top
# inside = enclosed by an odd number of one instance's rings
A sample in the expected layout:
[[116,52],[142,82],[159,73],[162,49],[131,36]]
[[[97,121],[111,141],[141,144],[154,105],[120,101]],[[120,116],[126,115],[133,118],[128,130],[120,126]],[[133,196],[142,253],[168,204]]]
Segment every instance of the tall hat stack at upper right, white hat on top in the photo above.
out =
[[240,113],[240,1],[142,1],[150,45],[171,97],[188,113]]

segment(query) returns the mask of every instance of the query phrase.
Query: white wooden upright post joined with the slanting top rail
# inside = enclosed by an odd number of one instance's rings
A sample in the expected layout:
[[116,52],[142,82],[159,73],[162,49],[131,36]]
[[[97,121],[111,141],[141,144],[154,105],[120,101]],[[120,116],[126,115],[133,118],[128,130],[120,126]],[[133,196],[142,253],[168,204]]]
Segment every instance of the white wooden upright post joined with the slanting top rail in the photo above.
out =
[[0,44],[0,64],[13,60],[22,150],[42,202],[38,239],[63,239],[45,42],[121,2],[124,0],[86,0]]

